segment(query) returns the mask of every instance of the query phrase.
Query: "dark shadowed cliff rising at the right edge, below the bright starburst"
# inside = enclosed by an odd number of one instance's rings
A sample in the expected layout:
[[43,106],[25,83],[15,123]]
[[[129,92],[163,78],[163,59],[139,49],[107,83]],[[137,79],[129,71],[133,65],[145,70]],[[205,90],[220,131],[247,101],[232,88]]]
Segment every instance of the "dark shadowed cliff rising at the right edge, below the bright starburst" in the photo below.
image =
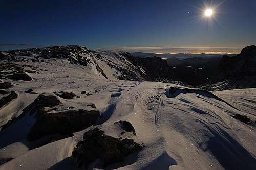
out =
[[236,56],[224,55],[216,76],[207,85],[213,90],[255,87],[256,46],[247,46]]

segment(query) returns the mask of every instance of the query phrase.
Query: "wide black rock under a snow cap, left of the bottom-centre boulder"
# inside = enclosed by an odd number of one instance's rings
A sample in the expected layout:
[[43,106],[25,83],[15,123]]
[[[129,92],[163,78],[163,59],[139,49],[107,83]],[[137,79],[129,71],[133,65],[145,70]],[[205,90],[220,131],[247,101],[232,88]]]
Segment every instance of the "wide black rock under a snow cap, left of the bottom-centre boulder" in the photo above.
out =
[[45,135],[68,135],[92,126],[99,117],[95,110],[69,110],[59,113],[44,113],[36,116],[36,123],[30,129],[28,139],[36,140]]

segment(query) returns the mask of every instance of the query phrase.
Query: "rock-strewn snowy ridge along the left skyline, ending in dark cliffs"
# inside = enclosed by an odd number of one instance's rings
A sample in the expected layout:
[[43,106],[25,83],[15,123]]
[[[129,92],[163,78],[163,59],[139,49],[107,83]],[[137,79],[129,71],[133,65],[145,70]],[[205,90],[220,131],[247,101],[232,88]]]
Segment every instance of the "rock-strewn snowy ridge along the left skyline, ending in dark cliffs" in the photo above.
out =
[[[16,56],[26,56],[16,58]],[[81,46],[53,46],[46,48],[32,48],[29,50],[13,50],[0,52],[3,61],[45,62],[60,59],[70,64],[81,65],[91,69],[92,72],[105,79],[117,78],[134,81],[172,81],[171,72],[166,61],[161,58],[134,58],[126,52],[90,51]],[[46,62],[47,62],[46,61]],[[5,64],[0,68],[0,76],[12,80],[27,80],[23,73],[26,65]],[[30,67],[30,66],[28,66]],[[34,73],[35,68],[25,70]],[[7,70],[15,71],[12,75]]]

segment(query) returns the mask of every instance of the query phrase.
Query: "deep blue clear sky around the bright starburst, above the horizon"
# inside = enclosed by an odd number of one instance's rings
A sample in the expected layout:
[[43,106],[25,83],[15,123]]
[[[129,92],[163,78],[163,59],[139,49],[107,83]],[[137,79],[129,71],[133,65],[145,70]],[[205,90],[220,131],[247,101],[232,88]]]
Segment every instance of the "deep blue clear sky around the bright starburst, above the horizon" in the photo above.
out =
[[256,44],[256,1],[0,0],[0,50],[105,47],[242,47]]

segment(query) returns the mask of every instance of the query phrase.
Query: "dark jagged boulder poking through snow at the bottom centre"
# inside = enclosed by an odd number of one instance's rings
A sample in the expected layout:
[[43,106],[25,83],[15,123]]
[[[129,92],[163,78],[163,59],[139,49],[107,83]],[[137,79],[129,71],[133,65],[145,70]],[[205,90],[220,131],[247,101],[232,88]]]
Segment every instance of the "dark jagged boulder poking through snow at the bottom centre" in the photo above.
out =
[[90,130],[83,135],[72,155],[78,167],[87,167],[97,158],[104,162],[104,166],[120,162],[129,154],[141,150],[141,145],[133,139],[117,139],[107,136],[99,129]]

